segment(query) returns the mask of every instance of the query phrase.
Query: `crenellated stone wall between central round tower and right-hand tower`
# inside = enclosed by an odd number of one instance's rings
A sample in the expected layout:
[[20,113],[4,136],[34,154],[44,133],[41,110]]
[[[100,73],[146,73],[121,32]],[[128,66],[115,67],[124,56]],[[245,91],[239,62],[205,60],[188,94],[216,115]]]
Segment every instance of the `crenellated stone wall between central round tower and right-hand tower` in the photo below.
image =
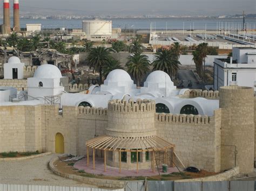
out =
[[176,145],[185,166],[220,171],[220,111],[213,117],[156,114],[158,136]]

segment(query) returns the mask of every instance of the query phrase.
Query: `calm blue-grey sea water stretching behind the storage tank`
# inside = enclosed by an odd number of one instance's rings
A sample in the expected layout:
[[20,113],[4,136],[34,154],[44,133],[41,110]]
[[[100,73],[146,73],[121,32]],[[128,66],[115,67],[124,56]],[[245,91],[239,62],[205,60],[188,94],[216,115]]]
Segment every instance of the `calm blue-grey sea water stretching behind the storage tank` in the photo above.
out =
[[[70,29],[82,29],[81,19],[21,19],[21,27],[26,27],[26,24],[42,24],[43,29],[54,29],[59,27],[65,27]],[[0,23],[3,21],[0,19]],[[150,24],[154,22],[156,24],[157,30],[165,30],[167,24],[167,30],[183,29],[183,23],[185,30],[193,29],[205,29],[207,25],[207,30],[216,30],[217,22],[218,25],[225,29],[227,23],[234,23],[242,26],[242,19],[112,19],[113,28],[120,27],[122,29],[150,29]],[[253,29],[253,25],[256,27],[255,19],[247,19],[247,26]],[[237,28],[238,29],[238,28]]]

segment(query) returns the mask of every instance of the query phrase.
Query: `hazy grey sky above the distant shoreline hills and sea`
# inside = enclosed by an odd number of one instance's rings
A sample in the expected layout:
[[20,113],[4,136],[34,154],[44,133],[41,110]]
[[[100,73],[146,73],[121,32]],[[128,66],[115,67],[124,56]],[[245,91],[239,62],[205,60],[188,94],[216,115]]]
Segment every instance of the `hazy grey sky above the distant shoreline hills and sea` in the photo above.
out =
[[[12,0],[11,0],[12,1]],[[21,11],[83,15],[235,15],[256,13],[256,0],[20,0]]]

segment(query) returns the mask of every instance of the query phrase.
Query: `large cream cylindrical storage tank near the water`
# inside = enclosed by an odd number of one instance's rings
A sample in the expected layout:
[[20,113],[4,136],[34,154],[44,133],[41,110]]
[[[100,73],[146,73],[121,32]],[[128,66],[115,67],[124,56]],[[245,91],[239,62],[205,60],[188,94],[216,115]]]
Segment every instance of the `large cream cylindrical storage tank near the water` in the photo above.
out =
[[83,20],[83,32],[86,35],[111,35],[112,20]]

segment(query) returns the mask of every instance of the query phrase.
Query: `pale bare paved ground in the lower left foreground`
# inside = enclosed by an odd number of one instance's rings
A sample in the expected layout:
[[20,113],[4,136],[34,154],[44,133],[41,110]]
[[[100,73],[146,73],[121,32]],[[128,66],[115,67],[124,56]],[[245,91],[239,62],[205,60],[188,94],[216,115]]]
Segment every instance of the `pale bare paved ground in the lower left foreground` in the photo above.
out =
[[21,185],[93,187],[53,174],[49,161],[55,154],[20,161],[0,161],[0,183]]

